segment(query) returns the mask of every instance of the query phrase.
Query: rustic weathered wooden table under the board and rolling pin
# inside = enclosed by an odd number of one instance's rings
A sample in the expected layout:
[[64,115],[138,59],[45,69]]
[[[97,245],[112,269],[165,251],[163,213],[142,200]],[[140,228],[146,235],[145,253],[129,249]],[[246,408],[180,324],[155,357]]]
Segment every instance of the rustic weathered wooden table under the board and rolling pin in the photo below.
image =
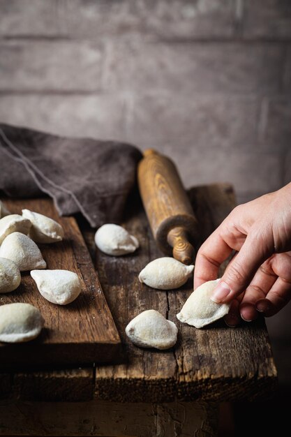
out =
[[[203,241],[234,207],[234,193],[220,184],[189,195]],[[138,281],[147,262],[163,254],[139,202],[129,209],[124,225],[140,241],[133,255],[96,254],[94,230],[80,222],[123,342],[120,364],[0,373],[0,436],[214,436],[220,402],[265,399],[274,391],[276,367],[263,318],[235,329],[222,320],[195,329],[176,318],[192,279],[176,291]],[[147,350],[128,341],[128,321],[146,309],[177,324],[174,348]]]

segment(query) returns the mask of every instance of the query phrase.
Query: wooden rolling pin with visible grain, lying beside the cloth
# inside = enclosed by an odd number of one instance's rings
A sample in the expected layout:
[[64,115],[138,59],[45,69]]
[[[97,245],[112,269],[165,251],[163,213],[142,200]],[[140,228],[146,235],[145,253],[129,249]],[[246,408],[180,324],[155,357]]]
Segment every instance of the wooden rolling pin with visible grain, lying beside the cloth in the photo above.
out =
[[144,151],[137,168],[138,186],[158,247],[184,264],[192,264],[197,220],[176,166],[153,149]]

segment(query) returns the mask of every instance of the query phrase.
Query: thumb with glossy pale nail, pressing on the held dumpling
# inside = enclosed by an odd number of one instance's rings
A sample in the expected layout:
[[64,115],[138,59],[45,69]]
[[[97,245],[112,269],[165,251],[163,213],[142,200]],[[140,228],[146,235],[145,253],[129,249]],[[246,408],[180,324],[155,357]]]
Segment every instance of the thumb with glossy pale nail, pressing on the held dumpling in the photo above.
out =
[[240,251],[232,258],[214,289],[211,300],[217,304],[231,302],[246,290],[255,272],[270,255],[271,250],[261,234],[248,234]]

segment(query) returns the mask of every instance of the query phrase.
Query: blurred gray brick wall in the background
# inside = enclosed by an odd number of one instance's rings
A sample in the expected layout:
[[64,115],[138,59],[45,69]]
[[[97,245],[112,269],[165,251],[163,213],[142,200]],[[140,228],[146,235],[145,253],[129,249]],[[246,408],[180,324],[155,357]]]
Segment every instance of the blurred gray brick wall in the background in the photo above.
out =
[[239,202],[290,180],[289,0],[1,0],[0,119],[156,147]]

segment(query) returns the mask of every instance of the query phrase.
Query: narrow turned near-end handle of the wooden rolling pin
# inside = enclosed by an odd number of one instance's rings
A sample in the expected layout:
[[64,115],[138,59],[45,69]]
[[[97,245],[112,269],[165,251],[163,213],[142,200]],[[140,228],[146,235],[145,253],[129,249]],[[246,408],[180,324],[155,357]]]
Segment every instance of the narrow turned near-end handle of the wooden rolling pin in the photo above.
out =
[[167,242],[173,248],[173,257],[183,264],[193,264],[195,249],[188,242],[186,231],[183,228],[174,228],[167,235]]

